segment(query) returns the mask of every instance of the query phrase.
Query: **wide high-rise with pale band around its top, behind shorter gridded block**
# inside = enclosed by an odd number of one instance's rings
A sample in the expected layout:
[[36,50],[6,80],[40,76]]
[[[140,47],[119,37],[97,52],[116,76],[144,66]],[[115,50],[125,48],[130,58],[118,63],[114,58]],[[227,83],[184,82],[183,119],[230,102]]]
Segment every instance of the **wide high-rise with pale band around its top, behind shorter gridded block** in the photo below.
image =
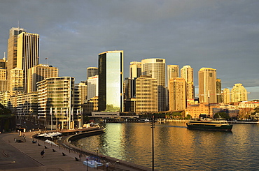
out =
[[142,75],[148,75],[158,80],[158,111],[167,109],[165,92],[165,59],[143,59],[141,61]]

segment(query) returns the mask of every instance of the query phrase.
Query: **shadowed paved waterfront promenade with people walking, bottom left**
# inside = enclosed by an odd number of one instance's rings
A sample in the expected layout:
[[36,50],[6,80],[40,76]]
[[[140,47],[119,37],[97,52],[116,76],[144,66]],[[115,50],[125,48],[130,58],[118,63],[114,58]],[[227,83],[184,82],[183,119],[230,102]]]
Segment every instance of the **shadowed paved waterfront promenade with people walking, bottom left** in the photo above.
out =
[[[136,165],[134,168],[127,167],[127,165],[120,165],[120,163],[109,163],[109,168],[105,166],[98,168],[90,168],[83,165],[85,156],[82,156],[81,161],[76,161],[79,158],[79,154],[68,149],[63,149],[58,146],[45,143],[44,141],[37,140],[37,143],[32,143],[33,133],[22,133],[25,134],[26,142],[15,142],[17,140],[24,140],[18,133],[2,133],[0,134],[0,170],[151,170],[149,168],[141,167],[138,168]],[[40,146],[38,145],[40,144]],[[45,149],[47,147],[47,149]],[[59,149],[60,148],[60,149]],[[41,156],[41,151],[45,150],[44,157]],[[55,152],[52,151],[55,150]],[[65,156],[62,155],[65,154]],[[134,165],[133,163],[128,163]]]

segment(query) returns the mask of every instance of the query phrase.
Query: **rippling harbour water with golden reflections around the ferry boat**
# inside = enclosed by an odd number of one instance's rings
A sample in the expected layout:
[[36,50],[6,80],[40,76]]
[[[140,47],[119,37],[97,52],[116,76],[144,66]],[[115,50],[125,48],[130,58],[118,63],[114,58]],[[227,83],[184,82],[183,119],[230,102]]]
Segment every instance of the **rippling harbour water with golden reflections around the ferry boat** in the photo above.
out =
[[[104,124],[102,135],[76,142],[124,161],[152,168],[150,123]],[[235,124],[232,132],[188,130],[186,122],[155,123],[155,170],[258,170],[259,125]]]

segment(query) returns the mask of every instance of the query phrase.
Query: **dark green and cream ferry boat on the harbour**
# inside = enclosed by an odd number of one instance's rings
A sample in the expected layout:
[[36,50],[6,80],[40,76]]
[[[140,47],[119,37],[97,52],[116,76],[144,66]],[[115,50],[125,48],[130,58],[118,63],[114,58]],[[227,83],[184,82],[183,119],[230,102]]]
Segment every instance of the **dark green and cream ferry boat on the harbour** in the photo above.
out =
[[198,119],[190,120],[186,123],[188,129],[208,130],[208,131],[231,131],[233,125],[228,124],[226,119],[211,119],[201,114]]

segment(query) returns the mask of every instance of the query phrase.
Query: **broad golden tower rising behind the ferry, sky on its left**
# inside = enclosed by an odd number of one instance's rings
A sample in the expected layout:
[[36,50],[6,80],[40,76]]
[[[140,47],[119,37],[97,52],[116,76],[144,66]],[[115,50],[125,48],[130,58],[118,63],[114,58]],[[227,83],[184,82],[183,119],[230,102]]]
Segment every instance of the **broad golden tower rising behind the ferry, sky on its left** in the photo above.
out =
[[217,103],[216,69],[201,68],[198,75],[200,103]]

